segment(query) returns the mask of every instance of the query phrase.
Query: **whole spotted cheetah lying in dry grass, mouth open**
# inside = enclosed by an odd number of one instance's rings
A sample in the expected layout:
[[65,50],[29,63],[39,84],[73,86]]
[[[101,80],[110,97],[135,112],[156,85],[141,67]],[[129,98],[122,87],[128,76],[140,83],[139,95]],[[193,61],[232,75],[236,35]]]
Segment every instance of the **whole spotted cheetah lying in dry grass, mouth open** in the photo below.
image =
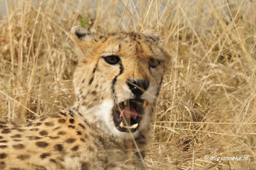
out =
[[0,169],[146,169],[157,96],[170,55],[158,32],[70,30],[76,102],[27,124],[0,124]]

